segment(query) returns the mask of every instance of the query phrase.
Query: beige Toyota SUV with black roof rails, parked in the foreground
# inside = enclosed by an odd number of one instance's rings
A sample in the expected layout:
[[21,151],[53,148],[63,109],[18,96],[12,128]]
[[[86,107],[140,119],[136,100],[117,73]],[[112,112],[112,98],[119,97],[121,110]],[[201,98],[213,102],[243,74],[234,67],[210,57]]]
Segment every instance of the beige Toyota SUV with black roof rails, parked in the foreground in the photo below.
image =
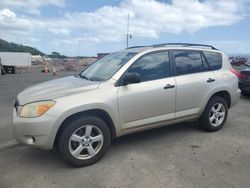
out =
[[13,129],[18,141],[57,147],[66,163],[80,167],[100,160],[111,139],[125,134],[196,119],[217,131],[239,95],[237,72],[212,46],[131,47],[22,91]]

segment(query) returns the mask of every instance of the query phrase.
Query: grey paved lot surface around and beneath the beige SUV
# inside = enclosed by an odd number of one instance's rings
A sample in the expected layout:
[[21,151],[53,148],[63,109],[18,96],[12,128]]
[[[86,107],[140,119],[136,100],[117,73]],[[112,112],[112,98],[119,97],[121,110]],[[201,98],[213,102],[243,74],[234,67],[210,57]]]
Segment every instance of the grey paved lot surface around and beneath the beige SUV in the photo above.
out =
[[[58,76],[0,77],[0,145],[12,143],[12,101],[25,87]],[[71,168],[55,151],[21,144],[0,147],[0,187],[250,187],[250,97],[230,109],[218,132],[197,122],[171,125],[113,141],[98,163]],[[6,142],[7,141],[7,142]]]

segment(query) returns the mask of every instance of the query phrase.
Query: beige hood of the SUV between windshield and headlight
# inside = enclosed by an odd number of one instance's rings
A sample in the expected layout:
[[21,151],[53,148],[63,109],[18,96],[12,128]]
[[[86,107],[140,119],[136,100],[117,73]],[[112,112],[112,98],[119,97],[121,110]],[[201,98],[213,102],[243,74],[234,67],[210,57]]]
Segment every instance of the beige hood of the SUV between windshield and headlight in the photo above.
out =
[[17,99],[20,105],[24,105],[34,101],[50,100],[94,90],[98,88],[99,84],[100,82],[89,81],[76,76],[68,76],[28,87],[17,96]]

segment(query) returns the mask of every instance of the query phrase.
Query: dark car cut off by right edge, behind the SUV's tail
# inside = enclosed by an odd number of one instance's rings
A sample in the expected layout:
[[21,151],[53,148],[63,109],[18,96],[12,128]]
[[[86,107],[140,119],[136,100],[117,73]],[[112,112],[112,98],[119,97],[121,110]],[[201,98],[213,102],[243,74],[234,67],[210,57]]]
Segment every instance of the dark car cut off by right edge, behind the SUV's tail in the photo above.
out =
[[239,88],[242,95],[250,95],[250,68],[239,72]]

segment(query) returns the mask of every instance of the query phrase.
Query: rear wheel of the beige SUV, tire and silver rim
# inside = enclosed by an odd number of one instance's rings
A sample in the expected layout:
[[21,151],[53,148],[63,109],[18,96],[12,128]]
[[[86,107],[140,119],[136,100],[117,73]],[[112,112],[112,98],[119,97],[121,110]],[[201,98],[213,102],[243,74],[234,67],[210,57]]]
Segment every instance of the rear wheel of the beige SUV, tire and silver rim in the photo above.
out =
[[[221,107],[219,108],[219,106]],[[225,99],[219,96],[214,96],[208,101],[207,106],[199,119],[200,126],[208,132],[217,131],[225,124],[227,115],[228,105]]]

